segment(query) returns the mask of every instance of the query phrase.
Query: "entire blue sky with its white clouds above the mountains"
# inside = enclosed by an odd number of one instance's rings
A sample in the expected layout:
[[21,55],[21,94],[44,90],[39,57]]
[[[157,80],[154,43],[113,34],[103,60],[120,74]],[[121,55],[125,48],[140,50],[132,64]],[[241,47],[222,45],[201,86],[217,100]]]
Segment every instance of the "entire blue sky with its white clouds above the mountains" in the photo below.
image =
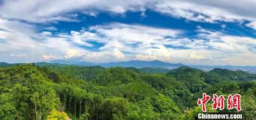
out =
[[256,66],[254,0],[3,0],[0,61]]

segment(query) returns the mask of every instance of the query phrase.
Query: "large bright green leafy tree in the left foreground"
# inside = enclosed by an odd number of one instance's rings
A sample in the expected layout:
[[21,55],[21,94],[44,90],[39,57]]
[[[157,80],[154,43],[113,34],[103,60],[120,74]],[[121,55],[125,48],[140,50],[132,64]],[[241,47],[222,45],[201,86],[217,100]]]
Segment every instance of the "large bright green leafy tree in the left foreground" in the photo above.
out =
[[[3,70],[8,74],[9,101],[3,101],[2,105],[10,104],[18,111],[17,118],[20,119],[45,119],[47,114],[60,105],[56,96],[54,84],[48,82],[33,64],[20,65]],[[2,73],[2,72],[1,72]],[[1,75],[2,76],[2,75]],[[1,79],[6,80],[6,77]],[[2,81],[2,80],[0,80]],[[15,114],[11,111],[10,114]]]

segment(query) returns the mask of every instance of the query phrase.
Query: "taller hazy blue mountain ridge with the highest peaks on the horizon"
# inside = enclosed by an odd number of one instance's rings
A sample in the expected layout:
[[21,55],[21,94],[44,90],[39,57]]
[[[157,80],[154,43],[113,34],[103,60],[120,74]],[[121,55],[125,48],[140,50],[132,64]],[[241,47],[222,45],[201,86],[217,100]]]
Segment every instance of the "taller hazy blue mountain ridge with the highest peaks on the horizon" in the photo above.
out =
[[109,63],[91,63],[91,62],[78,62],[78,61],[67,61],[67,60],[52,60],[49,63],[60,63],[60,64],[73,64],[73,65],[81,65],[81,66],[95,66],[99,65],[105,68],[121,66],[121,67],[152,67],[158,68],[163,67],[167,69],[179,68],[181,66],[185,66],[182,63],[168,63],[159,60],[154,61],[141,61],[141,60],[132,60],[132,61],[120,61],[120,62],[109,62]]

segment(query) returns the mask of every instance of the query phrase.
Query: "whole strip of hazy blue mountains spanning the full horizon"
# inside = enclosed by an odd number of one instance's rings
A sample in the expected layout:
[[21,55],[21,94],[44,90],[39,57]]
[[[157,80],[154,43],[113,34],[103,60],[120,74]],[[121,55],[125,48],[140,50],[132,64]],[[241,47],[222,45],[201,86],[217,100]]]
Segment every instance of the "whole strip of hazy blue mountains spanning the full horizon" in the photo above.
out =
[[[19,63],[24,64],[24,63]],[[105,68],[110,67],[135,67],[135,68],[143,68],[143,67],[152,67],[152,68],[166,68],[166,69],[175,69],[181,66],[189,66],[191,68],[202,69],[204,71],[210,71],[215,68],[221,69],[229,69],[229,70],[243,70],[249,73],[256,73],[256,66],[202,66],[202,65],[184,65],[182,63],[168,63],[159,60],[154,61],[142,61],[142,60],[131,60],[131,61],[119,61],[119,62],[109,62],[109,63],[92,63],[92,62],[80,62],[80,61],[67,61],[67,60],[52,60],[50,62],[37,62],[35,63],[37,66],[45,66],[45,65],[58,65],[58,66],[66,66],[66,65],[78,65],[78,66],[102,66]],[[9,64],[6,62],[0,62],[0,67],[8,67],[14,66],[16,64]]]

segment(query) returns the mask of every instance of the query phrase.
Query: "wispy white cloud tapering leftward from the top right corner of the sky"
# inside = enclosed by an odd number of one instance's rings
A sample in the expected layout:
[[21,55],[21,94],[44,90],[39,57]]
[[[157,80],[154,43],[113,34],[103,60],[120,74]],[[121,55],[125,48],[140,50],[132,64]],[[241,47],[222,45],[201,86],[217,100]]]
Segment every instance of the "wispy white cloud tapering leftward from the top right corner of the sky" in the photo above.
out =
[[236,0],[236,2],[233,0],[159,0],[150,8],[188,21],[208,23],[252,21],[246,26],[256,28],[254,0]]

